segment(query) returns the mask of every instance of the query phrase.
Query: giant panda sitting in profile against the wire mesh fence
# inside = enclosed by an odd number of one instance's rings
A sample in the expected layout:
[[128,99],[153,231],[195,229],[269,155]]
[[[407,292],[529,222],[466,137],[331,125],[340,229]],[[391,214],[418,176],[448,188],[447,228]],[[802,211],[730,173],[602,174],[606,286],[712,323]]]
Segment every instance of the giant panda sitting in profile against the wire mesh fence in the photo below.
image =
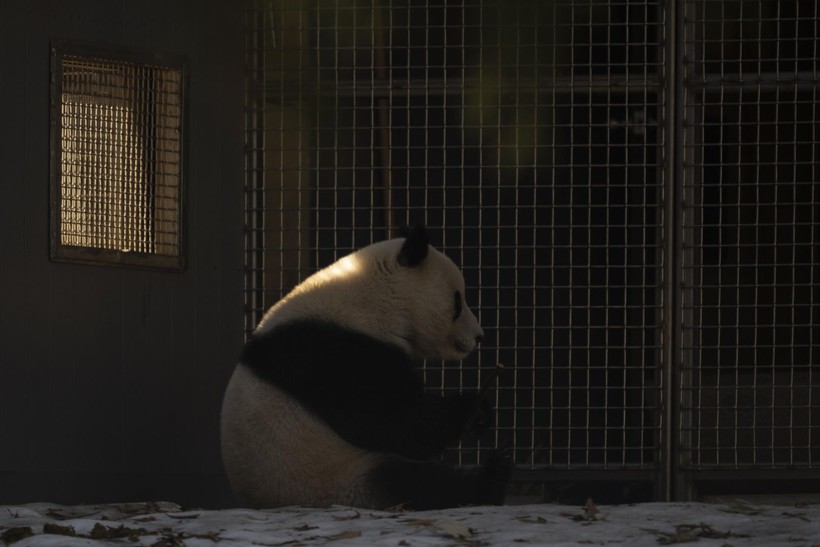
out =
[[423,227],[318,271],[276,303],[225,392],[222,457],[251,507],[501,504],[504,451],[465,470],[437,456],[486,426],[478,393],[425,393],[418,361],[456,360],[483,331],[464,278]]

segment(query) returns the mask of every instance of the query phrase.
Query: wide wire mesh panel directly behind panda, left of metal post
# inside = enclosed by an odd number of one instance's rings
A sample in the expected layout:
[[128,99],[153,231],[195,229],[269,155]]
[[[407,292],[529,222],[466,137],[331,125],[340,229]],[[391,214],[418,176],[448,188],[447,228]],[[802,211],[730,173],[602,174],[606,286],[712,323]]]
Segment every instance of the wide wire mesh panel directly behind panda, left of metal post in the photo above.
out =
[[246,324],[423,222],[486,331],[428,386],[506,366],[495,438],[451,456],[653,468],[660,3],[252,0],[248,24]]

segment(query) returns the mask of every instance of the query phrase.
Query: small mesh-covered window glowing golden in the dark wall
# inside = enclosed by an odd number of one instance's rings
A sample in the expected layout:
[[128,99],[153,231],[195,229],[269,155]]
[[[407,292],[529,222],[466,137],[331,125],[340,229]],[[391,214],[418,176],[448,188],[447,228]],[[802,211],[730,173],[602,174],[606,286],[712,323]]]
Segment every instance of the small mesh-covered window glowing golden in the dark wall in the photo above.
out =
[[181,268],[181,63],[55,45],[52,257]]

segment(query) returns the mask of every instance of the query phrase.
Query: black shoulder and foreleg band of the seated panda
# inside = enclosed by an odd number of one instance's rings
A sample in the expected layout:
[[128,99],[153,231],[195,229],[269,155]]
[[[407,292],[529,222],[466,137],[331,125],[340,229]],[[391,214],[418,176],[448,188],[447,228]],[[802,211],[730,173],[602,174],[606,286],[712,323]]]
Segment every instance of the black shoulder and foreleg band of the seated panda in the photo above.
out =
[[297,320],[253,336],[240,356],[339,436],[366,450],[427,458],[474,415],[469,396],[428,396],[402,348],[342,325]]

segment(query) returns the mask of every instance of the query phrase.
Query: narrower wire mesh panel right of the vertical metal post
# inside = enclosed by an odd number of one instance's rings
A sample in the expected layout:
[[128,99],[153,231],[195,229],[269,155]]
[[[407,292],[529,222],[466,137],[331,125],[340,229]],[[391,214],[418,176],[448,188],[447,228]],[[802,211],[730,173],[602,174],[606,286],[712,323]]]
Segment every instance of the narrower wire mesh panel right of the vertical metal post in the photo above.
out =
[[684,9],[681,463],[817,469],[818,4]]

